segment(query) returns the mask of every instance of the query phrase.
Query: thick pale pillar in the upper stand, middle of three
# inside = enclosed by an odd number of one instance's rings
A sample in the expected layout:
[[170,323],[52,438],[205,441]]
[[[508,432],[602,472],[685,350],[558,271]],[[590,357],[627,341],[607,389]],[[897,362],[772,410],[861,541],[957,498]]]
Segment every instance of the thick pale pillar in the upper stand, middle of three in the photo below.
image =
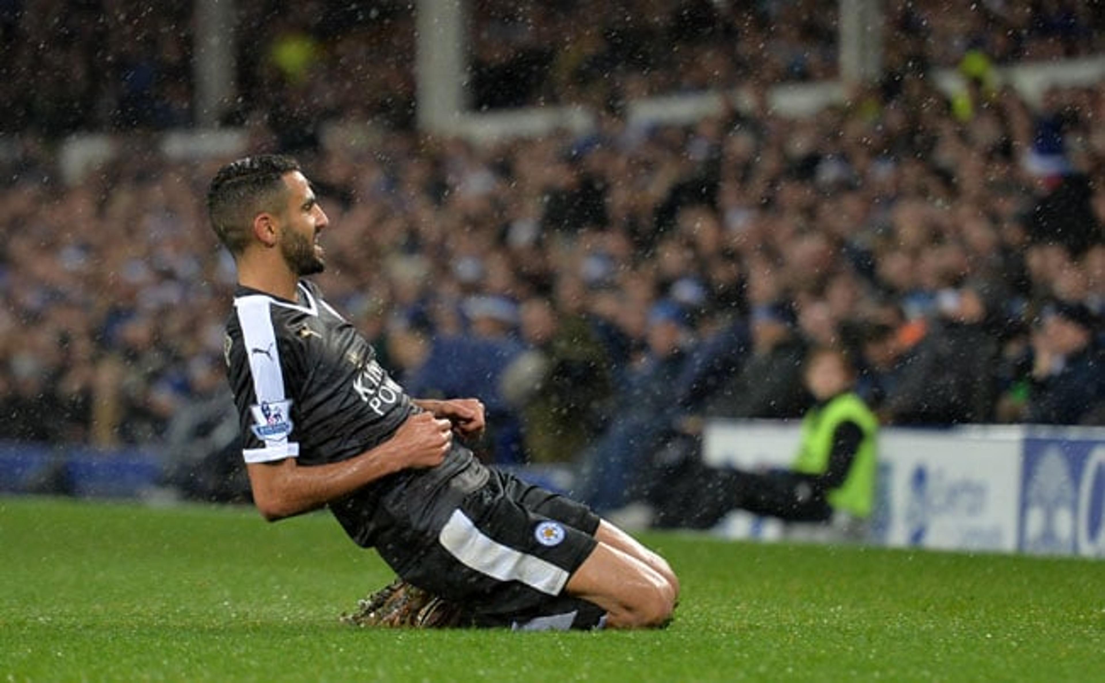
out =
[[419,128],[455,129],[467,108],[464,0],[418,0],[414,82]]

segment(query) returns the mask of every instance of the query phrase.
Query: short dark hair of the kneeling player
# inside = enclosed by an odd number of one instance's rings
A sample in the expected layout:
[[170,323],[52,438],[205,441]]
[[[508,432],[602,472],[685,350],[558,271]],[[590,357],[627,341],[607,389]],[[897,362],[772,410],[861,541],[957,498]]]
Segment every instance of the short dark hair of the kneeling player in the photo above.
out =
[[275,210],[274,200],[287,189],[284,175],[297,170],[299,162],[292,157],[272,154],[244,157],[219,169],[208,188],[208,216],[230,253],[236,256],[245,250],[253,217]]

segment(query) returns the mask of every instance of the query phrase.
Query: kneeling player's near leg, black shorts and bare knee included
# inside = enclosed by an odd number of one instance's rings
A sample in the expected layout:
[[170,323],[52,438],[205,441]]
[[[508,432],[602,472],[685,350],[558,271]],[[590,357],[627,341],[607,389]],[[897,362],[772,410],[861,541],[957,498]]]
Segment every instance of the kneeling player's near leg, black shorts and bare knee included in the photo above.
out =
[[497,471],[450,513],[435,543],[420,538],[403,529],[377,549],[410,582],[470,607],[477,624],[593,628],[606,612],[611,628],[657,627],[678,595],[667,563],[628,534]]

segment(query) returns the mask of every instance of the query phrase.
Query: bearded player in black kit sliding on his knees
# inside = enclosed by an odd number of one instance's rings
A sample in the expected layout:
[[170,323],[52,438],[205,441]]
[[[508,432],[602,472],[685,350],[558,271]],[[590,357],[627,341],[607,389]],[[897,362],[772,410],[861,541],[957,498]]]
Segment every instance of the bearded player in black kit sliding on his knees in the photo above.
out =
[[229,164],[207,201],[238,266],[228,378],[266,519],[328,507],[355,543],[472,626],[670,620],[678,582],[663,558],[586,506],[484,466],[461,442],[483,430],[482,403],[408,397],[304,280],[325,267],[328,220],[296,160]]

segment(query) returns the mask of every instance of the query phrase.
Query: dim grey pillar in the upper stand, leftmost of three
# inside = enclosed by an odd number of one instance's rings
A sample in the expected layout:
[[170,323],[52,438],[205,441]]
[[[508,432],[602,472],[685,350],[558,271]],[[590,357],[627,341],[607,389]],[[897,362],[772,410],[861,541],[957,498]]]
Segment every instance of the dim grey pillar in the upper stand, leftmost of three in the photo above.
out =
[[196,1],[196,57],[192,78],[196,94],[196,125],[219,125],[222,108],[236,94],[234,80],[234,2],[233,0]]

